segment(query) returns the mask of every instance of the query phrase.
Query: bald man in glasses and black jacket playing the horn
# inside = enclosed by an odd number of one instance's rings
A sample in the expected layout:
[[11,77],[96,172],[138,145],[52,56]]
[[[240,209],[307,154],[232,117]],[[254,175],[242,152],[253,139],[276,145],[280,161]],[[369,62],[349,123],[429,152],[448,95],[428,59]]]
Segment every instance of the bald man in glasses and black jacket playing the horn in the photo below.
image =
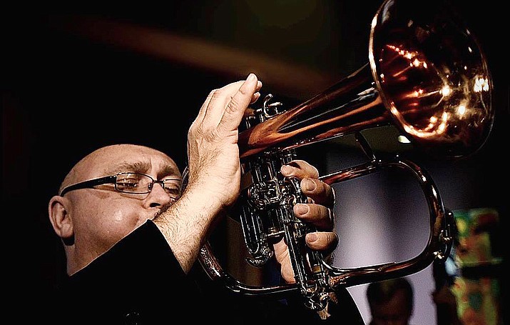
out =
[[[146,146],[106,146],[73,166],[49,201],[69,276],[50,301],[53,324],[323,322],[296,297],[240,299],[214,286],[199,287],[200,279],[192,277],[200,246],[240,194],[238,125],[261,86],[250,74],[210,92],[188,131],[189,173],[182,193],[175,162]],[[131,122],[126,128],[137,131],[137,121]],[[319,230],[307,234],[307,245],[332,251],[337,244],[328,208],[332,188],[305,161],[281,172],[301,179],[311,200],[294,208],[297,218]],[[275,245],[275,256],[282,278],[295,281],[283,241]],[[346,290],[333,298],[327,322],[363,324]]]

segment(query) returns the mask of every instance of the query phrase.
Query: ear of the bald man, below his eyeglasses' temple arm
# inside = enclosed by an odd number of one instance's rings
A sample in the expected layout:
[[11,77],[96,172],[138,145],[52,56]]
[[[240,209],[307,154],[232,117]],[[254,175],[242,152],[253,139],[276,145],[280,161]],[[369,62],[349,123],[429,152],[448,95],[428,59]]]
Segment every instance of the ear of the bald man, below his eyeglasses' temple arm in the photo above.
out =
[[48,214],[53,231],[66,245],[72,244],[74,236],[73,220],[68,212],[70,204],[68,199],[58,195],[53,196],[48,204]]

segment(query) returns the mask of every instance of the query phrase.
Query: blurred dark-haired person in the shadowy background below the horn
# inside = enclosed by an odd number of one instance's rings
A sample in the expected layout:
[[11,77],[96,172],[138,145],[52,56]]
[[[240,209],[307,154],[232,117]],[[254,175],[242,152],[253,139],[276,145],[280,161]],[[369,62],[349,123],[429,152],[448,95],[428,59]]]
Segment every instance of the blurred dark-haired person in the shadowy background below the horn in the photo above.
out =
[[409,325],[414,308],[412,285],[405,278],[372,282],[367,287],[369,325]]

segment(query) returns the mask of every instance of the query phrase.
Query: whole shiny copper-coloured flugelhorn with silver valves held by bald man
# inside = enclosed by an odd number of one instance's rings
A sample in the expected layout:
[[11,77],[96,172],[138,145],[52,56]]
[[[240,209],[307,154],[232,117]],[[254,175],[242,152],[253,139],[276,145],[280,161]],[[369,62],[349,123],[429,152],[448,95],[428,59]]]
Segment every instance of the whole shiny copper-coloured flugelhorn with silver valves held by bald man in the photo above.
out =
[[[199,259],[211,279],[240,294],[299,291],[310,309],[322,313],[339,286],[407,276],[447,256],[454,217],[444,208],[434,181],[413,161],[398,155],[379,159],[361,131],[394,125],[417,148],[436,156],[459,159],[474,154],[488,139],[494,121],[484,54],[446,2],[386,0],[372,19],[368,59],[355,73],[290,109],[267,96],[260,109],[246,112],[240,129],[243,177],[237,206],[248,263],[266,264],[272,244],[285,239],[295,284],[243,284],[223,269],[205,244]],[[430,215],[429,241],[413,259],[339,269],[305,249],[304,236],[313,229],[295,219],[292,206],[306,198],[299,181],[283,178],[278,171],[296,158],[298,147],[347,134],[356,136],[367,162],[322,176],[322,181],[335,184],[387,168],[409,171],[424,192]]]

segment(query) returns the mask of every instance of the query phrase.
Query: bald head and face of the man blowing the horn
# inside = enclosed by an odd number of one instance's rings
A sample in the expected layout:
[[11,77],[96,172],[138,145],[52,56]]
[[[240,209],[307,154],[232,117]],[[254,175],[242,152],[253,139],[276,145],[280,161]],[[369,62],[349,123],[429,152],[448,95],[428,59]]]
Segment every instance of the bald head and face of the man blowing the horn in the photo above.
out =
[[108,251],[175,199],[163,186],[151,186],[148,193],[138,194],[117,191],[111,182],[86,182],[119,173],[145,174],[153,180],[181,176],[168,155],[136,144],[104,146],[78,161],[60,186],[60,193],[67,188],[66,193],[49,202],[51,224],[66,251],[68,274]]

